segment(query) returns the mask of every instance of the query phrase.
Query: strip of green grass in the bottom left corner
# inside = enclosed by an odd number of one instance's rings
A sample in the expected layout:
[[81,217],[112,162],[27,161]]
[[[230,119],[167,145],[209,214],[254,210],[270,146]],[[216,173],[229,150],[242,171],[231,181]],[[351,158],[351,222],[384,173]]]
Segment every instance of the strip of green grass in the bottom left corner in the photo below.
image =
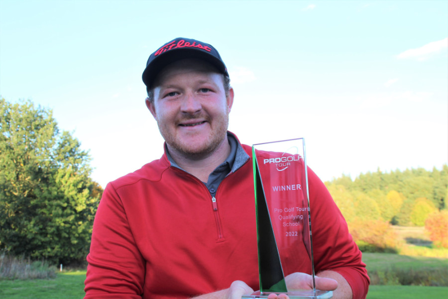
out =
[[55,279],[0,280],[2,299],[82,299],[86,271],[58,273]]

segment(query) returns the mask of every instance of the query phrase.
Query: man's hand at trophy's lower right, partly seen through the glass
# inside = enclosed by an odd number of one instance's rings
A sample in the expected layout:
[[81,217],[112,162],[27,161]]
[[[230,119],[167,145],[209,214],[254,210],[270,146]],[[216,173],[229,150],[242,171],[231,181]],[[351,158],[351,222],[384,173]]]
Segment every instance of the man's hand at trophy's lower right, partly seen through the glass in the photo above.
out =
[[[315,276],[316,289],[322,291],[334,291],[337,282],[331,278]],[[306,273],[296,272],[285,277],[286,287],[290,291],[313,290],[313,277]]]

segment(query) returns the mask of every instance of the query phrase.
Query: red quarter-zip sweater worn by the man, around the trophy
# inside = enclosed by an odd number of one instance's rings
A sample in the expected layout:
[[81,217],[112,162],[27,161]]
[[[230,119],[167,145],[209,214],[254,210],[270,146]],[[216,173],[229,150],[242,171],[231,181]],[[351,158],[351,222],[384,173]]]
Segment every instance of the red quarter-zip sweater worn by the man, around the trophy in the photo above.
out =
[[[365,298],[361,252],[325,185],[313,171],[308,176],[316,273],[338,272],[354,299]],[[185,299],[235,280],[258,290],[251,160],[224,178],[216,203],[203,182],[171,166],[166,154],[109,183],[87,261],[86,299]],[[311,274],[309,260],[295,263],[297,272]]]

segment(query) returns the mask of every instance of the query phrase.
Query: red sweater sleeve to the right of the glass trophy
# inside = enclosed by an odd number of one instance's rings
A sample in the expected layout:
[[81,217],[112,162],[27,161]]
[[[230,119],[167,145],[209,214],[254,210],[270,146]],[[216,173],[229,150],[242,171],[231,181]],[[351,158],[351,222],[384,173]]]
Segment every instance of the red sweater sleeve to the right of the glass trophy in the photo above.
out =
[[370,279],[344,217],[327,187],[310,168],[308,185],[316,273],[324,270],[339,273],[350,285],[353,299],[365,298]]

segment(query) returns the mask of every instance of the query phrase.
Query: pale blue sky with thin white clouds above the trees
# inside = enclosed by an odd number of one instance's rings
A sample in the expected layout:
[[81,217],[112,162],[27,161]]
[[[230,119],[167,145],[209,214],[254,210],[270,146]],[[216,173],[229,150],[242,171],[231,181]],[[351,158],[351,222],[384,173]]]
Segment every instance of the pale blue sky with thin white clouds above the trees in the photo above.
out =
[[243,144],[304,138],[322,180],[448,162],[448,1],[0,0],[0,96],[53,111],[103,187],[163,154],[141,74],[215,46]]

